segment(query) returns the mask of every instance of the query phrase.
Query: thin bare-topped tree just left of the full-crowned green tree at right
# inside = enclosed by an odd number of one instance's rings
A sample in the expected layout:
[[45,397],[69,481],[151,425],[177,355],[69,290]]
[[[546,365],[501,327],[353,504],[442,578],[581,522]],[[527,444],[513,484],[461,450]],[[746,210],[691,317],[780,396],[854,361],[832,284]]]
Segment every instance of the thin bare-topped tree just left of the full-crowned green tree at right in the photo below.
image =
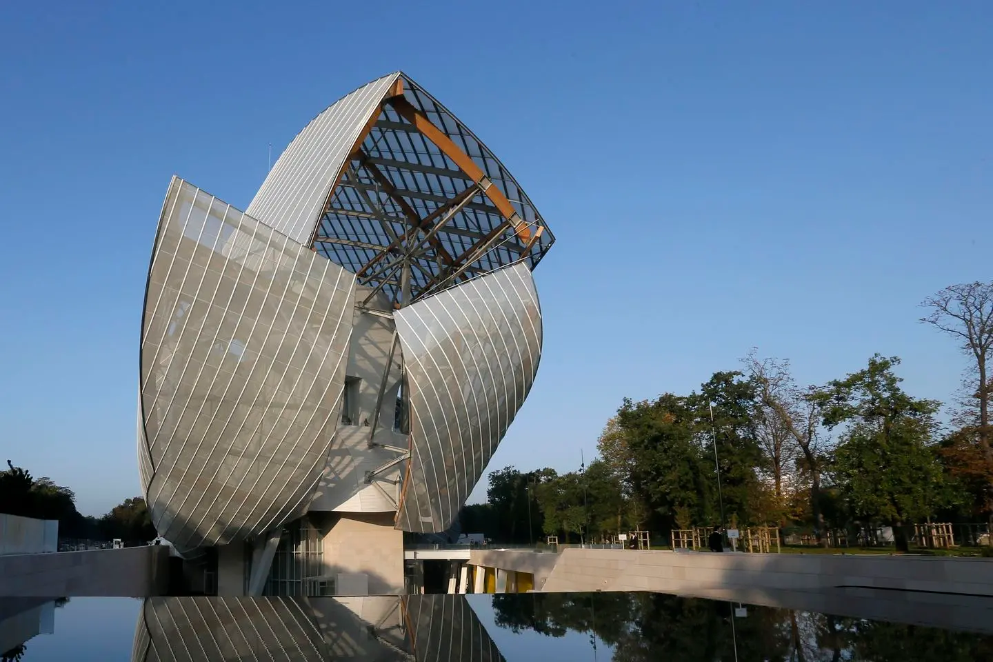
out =
[[[799,449],[798,468],[809,476],[810,481],[814,536],[818,542],[827,545],[827,538],[823,535],[826,525],[821,494],[826,443],[818,430],[819,403],[823,400],[821,389],[815,386],[800,389],[789,372],[789,361],[760,359],[753,349],[743,362],[755,385],[763,425],[787,431]],[[786,455],[787,452],[782,450],[780,453]]]

